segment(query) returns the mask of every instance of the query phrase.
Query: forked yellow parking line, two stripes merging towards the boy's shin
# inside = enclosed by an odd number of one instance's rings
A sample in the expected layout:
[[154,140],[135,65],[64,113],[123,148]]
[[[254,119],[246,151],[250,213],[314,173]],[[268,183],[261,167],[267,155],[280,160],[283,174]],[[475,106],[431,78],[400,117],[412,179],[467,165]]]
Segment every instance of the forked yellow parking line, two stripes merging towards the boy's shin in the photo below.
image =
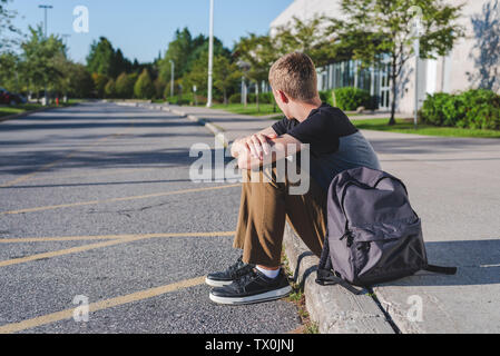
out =
[[[111,235],[111,236],[79,236],[76,237],[78,239],[111,239],[108,241],[100,241],[89,245],[82,245],[77,247],[70,247],[65,249],[59,249],[55,251],[49,253],[41,253],[36,254],[31,256],[26,257],[19,257],[19,258],[12,258],[7,260],[0,261],[0,267],[11,266],[11,265],[18,265],[18,264],[24,264],[42,258],[52,258],[57,256],[63,256],[63,255],[70,255],[70,254],[77,254],[87,251],[90,249],[101,248],[101,247],[108,247],[119,244],[127,244],[131,241],[138,241],[138,240],[145,240],[150,238],[159,238],[159,237],[215,237],[215,236],[233,236],[234,231],[214,231],[214,233],[176,233],[176,234],[138,234],[138,235]],[[60,240],[67,240],[68,238],[75,238],[75,237],[62,237]],[[18,240],[18,239],[16,239]],[[40,239],[42,240],[42,239]],[[39,240],[39,241],[40,241]]]

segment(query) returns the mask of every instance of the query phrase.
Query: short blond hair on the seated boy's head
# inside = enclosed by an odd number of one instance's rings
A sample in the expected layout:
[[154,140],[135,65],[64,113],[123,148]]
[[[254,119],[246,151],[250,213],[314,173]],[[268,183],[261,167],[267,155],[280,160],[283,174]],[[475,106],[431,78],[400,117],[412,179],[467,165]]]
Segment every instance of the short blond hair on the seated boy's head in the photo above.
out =
[[294,100],[308,102],[317,97],[316,67],[307,55],[285,55],[271,67],[269,85]]

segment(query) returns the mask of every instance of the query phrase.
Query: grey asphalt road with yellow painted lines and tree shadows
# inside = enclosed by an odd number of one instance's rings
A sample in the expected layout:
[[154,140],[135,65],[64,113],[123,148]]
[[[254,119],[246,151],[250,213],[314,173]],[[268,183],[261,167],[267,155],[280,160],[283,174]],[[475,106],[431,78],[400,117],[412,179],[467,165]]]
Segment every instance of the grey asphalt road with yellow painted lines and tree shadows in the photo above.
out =
[[300,327],[286,300],[208,299],[204,276],[238,257],[241,188],[189,179],[197,142],[214,137],[185,118],[102,102],[0,123],[0,333]]

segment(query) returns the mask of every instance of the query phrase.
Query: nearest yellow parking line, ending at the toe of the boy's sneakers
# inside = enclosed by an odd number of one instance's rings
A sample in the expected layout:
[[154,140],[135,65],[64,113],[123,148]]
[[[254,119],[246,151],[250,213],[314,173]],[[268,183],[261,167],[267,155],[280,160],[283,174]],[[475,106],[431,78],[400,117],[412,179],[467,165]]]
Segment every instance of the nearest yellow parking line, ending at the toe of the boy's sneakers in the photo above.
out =
[[[198,286],[205,281],[205,277],[196,277],[192,279],[186,279],[177,283],[173,283],[169,285],[155,287],[146,290],[136,291],[133,294],[128,294],[120,297],[115,297],[110,299],[105,299],[96,303],[89,304],[89,313],[104,310],[108,308],[112,308],[116,306],[139,301],[153,297],[157,297],[167,293],[173,293],[176,290]],[[21,330],[26,330],[29,328],[33,328],[41,325],[47,325],[65,319],[70,319],[73,316],[75,308],[66,309],[61,312],[56,312],[52,314],[42,315],[36,318],[22,320],[20,323],[12,323],[12,324],[6,324],[0,326],[0,334],[10,334],[10,333],[17,333]]]

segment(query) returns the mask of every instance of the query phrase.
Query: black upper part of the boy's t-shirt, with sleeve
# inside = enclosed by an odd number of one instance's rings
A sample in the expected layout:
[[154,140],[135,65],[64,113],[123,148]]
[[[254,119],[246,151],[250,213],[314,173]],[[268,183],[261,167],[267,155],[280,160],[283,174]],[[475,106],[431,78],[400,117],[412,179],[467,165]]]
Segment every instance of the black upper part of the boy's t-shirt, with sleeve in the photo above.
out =
[[314,156],[336,152],[341,137],[357,132],[341,109],[327,103],[312,110],[302,123],[285,117],[274,123],[273,129],[278,136],[287,134],[302,144],[308,144]]

